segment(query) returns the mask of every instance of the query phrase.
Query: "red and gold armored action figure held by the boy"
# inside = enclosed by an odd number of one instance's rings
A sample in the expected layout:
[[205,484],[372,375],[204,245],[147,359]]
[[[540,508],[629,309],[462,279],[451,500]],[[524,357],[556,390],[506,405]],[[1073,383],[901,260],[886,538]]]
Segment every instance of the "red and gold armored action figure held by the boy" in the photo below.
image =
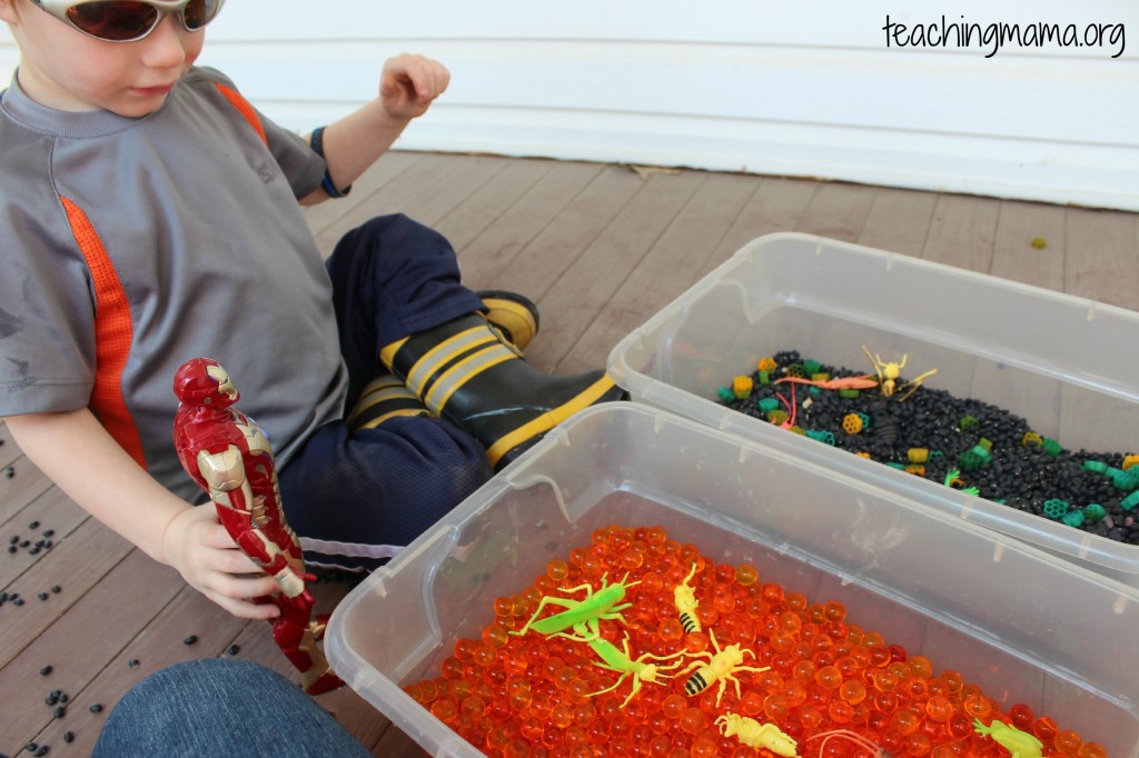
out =
[[187,361],[174,374],[174,446],[182,467],[210,494],[238,546],[272,576],[279,593],[259,599],[280,609],[273,640],[301,672],[301,686],[320,694],[343,684],[317,642],[327,618],[313,617],[301,544],[285,521],[272,448],[249,417],[232,407],[240,395],[210,359]]

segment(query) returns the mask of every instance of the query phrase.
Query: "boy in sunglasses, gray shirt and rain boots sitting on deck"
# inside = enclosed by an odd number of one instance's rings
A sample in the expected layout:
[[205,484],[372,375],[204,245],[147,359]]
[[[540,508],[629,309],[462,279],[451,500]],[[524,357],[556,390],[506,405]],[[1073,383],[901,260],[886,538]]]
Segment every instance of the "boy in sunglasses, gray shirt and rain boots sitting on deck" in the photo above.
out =
[[350,567],[621,390],[526,364],[450,245],[403,216],[345,236],[326,269],[300,205],[346,192],[450,75],[392,58],[375,100],[303,140],[194,66],[221,5],[0,0],[21,51],[0,92],[0,417],[96,518],[233,615],[270,618],[253,599],[273,579],[246,576],[214,509],[189,504],[204,493],[172,442],[185,361],[229,371],[306,555]]

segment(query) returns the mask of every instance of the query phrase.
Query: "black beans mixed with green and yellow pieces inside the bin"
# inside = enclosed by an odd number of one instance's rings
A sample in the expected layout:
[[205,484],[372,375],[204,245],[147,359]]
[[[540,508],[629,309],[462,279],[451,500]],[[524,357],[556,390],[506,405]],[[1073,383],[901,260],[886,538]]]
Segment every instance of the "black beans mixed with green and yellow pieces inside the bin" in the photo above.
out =
[[[746,374],[752,379],[748,392],[729,386],[721,390],[721,402],[771,421],[769,413],[788,413],[792,401],[793,382],[777,380],[867,373],[803,360],[796,351],[772,357],[772,370]],[[878,388],[839,393],[794,384],[794,427],[820,444],[894,468],[910,467],[910,473],[939,484],[976,488],[981,497],[1059,525],[1139,544],[1139,465],[1132,456],[1064,450],[1063,440],[1042,438],[1026,420],[982,401],[925,385],[902,401],[906,392],[885,397]],[[777,414],[775,420],[784,419]]]

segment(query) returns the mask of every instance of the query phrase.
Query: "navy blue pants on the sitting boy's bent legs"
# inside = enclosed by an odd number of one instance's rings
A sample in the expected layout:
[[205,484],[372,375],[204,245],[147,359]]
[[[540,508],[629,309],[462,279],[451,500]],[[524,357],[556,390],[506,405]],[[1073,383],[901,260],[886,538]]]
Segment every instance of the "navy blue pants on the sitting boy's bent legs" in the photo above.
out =
[[[407,216],[380,216],[328,259],[351,409],[398,339],[482,310],[459,281],[454,249]],[[486,451],[437,418],[352,431],[325,425],[279,472],[281,503],[313,566],[371,569],[491,477]]]

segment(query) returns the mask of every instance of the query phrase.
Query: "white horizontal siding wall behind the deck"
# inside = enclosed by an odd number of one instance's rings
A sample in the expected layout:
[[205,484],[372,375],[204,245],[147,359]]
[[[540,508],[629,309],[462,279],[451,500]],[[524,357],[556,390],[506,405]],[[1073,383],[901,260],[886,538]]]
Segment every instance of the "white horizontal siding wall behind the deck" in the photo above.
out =
[[[887,14],[1123,38],[989,58],[980,42],[887,49]],[[1139,209],[1136,0],[229,0],[208,34],[202,61],[298,130],[372,97],[383,59],[411,50],[453,80],[407,149]],[[15,58],[0,43],[0,74]]]

